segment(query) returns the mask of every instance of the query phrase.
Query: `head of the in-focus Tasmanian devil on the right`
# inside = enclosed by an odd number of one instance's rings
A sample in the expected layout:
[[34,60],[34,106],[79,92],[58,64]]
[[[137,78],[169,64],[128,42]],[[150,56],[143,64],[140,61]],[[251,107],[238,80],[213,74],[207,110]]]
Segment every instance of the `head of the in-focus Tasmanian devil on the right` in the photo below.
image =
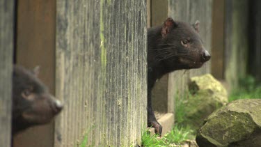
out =
[[168,18],[161,28],[161,42],[158,44],[157,58],[175,70],[200,68],[209,61],[210,54],[200,39],[199,22],[190,25],[174,22]]

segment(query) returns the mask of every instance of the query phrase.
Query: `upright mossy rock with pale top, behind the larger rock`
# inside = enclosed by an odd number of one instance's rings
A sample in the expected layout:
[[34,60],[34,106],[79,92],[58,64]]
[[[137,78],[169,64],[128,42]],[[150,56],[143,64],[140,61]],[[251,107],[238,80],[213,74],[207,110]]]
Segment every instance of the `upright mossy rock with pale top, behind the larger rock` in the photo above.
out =
[[222,84],[207,74],[192,77],[189,82],[192,93],[187,101],[186,120],[184,123],[198,129],[207,116],[228,103],[228,94]]

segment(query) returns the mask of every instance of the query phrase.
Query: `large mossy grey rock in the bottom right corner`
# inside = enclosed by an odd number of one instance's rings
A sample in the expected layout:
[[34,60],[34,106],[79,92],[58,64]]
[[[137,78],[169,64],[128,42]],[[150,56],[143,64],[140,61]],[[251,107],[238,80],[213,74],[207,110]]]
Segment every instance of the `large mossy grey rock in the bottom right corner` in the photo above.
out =
[[200,127],[198,146],[261,146],[261,99],[230,102]]

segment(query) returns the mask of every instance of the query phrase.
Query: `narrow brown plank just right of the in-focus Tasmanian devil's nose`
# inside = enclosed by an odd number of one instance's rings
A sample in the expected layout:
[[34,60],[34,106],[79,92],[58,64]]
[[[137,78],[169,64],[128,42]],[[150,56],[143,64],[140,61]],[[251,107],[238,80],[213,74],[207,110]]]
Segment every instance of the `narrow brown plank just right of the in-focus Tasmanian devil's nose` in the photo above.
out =
[[217,79],[223,79],[224,73],[224,17],[225,1],[214,0],[212,10],[212,75]]

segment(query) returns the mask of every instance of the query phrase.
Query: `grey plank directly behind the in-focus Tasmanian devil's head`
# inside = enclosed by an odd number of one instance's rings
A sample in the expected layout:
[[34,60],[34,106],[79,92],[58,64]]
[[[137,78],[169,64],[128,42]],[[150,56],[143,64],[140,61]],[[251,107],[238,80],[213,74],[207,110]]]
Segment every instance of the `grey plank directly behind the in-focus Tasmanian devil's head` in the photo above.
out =
[[[199,20],[200,37],[203,40],[205,49],[211,54],[212,0],[168,0],[168,15],[173,17],[174,20],[189,22],[190,24]],[[210,66],[211,60],[207,61],[207,63],[199,69],[172,72],[168,77],[168,99],[174,103],[173,98],[175,95],[182,95],[187,89],[189,77],[210,72]]]

